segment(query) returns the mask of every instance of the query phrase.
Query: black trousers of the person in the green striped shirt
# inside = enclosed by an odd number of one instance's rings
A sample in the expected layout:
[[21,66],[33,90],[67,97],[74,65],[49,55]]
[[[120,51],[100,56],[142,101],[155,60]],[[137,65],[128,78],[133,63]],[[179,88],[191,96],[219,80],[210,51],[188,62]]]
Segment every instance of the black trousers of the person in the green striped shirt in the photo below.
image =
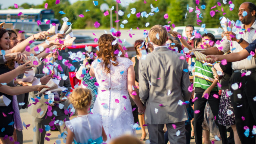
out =
[[203,135],[202,123],[204,121],[204,108],[205,108],[205,104],[207,101],[209,102],[209,105],[212,109],[213,116],[216,116],[215,123],[217,124],[217,126],[219,128],[222,143],[223,144],[228,143],[226,126],[218,124],[220,98],[219,99],[214,98],[213,94],[218,95],[218,93],[212,92],[212,93],[210,93],[209,98],[207,100],[205,98],[202,98],[203,93],[196,93],[195,98],[197,97],[198,99],[195,100],[195,102],[194,102],[194,111],[196,111],[196,110],[200,111],[197,114],[194,113],[194,132],[195,132],[196,144],[202,144],[202,135]]

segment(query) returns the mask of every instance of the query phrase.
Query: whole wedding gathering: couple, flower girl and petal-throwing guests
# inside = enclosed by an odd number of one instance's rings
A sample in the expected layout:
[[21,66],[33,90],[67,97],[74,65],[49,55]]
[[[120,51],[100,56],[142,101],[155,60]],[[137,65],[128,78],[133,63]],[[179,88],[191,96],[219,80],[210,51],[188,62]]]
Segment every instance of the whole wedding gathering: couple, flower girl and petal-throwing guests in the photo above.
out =
[[[25,31],[0,28],[0,143],[23,143],[30,124],[19,110],[28,108],[34,144],[47,143],[56,128],[57,144],[140,144],[146,128],[151,144],[255,144],[255,4],[242,3],[238,17],[241,28],[224,31],[221,41],[193,25],[185,28],[187,40],[155,25],[150,41],[135,41],[131,58],[113,32],[74,61],[61,56],[71,34],[43,31],[25,38]],[[69,76],[81,84],[72,88]]]

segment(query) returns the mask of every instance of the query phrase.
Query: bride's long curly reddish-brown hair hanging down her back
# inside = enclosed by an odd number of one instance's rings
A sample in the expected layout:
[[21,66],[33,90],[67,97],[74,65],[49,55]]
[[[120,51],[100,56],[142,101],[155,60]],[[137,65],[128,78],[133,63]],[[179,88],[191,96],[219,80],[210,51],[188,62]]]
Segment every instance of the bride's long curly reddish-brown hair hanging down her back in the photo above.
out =
[[[118,62],[116,61],[117,54],[114,54],[116,50],[120,51],[118,44],[112,45],[112,42],[115,41],[116,38],[110,34],[103,34],[99,38],[99,51],[96,52],[98,55],[98,58],[101,58],[105,71],[107,73],[110,73],[110,63],[114,61],[115,63],[112,63],[114,66],[118,65]],[[121,55],[121,57],[124,57],[124,54]]]

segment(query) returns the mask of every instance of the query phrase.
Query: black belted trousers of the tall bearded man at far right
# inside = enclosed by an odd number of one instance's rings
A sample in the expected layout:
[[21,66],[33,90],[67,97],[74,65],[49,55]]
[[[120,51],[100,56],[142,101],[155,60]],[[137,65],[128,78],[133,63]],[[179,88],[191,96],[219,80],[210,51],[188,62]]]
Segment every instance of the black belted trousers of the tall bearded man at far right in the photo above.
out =
[[[233,90],[231,85],[237,83],[240,88]],[[242,143],[255,144],[255,135],[252,135],[253,125],[256,125],[256,101],[253,98],[256,95],[256,73],[251,73],[250,76],[241,77],[241,73],[233,73],[230,81],[230,90],[233,92],[231,95],[231,102],[234,108],[236,130]],[[241,94],[242,98],[239,99],[237,94]],[[242,116],[245,118],[242,119]],[[249,127],[249,136],[246,137],[244,126]],[[254,137],[252,137],[254,136]]]

